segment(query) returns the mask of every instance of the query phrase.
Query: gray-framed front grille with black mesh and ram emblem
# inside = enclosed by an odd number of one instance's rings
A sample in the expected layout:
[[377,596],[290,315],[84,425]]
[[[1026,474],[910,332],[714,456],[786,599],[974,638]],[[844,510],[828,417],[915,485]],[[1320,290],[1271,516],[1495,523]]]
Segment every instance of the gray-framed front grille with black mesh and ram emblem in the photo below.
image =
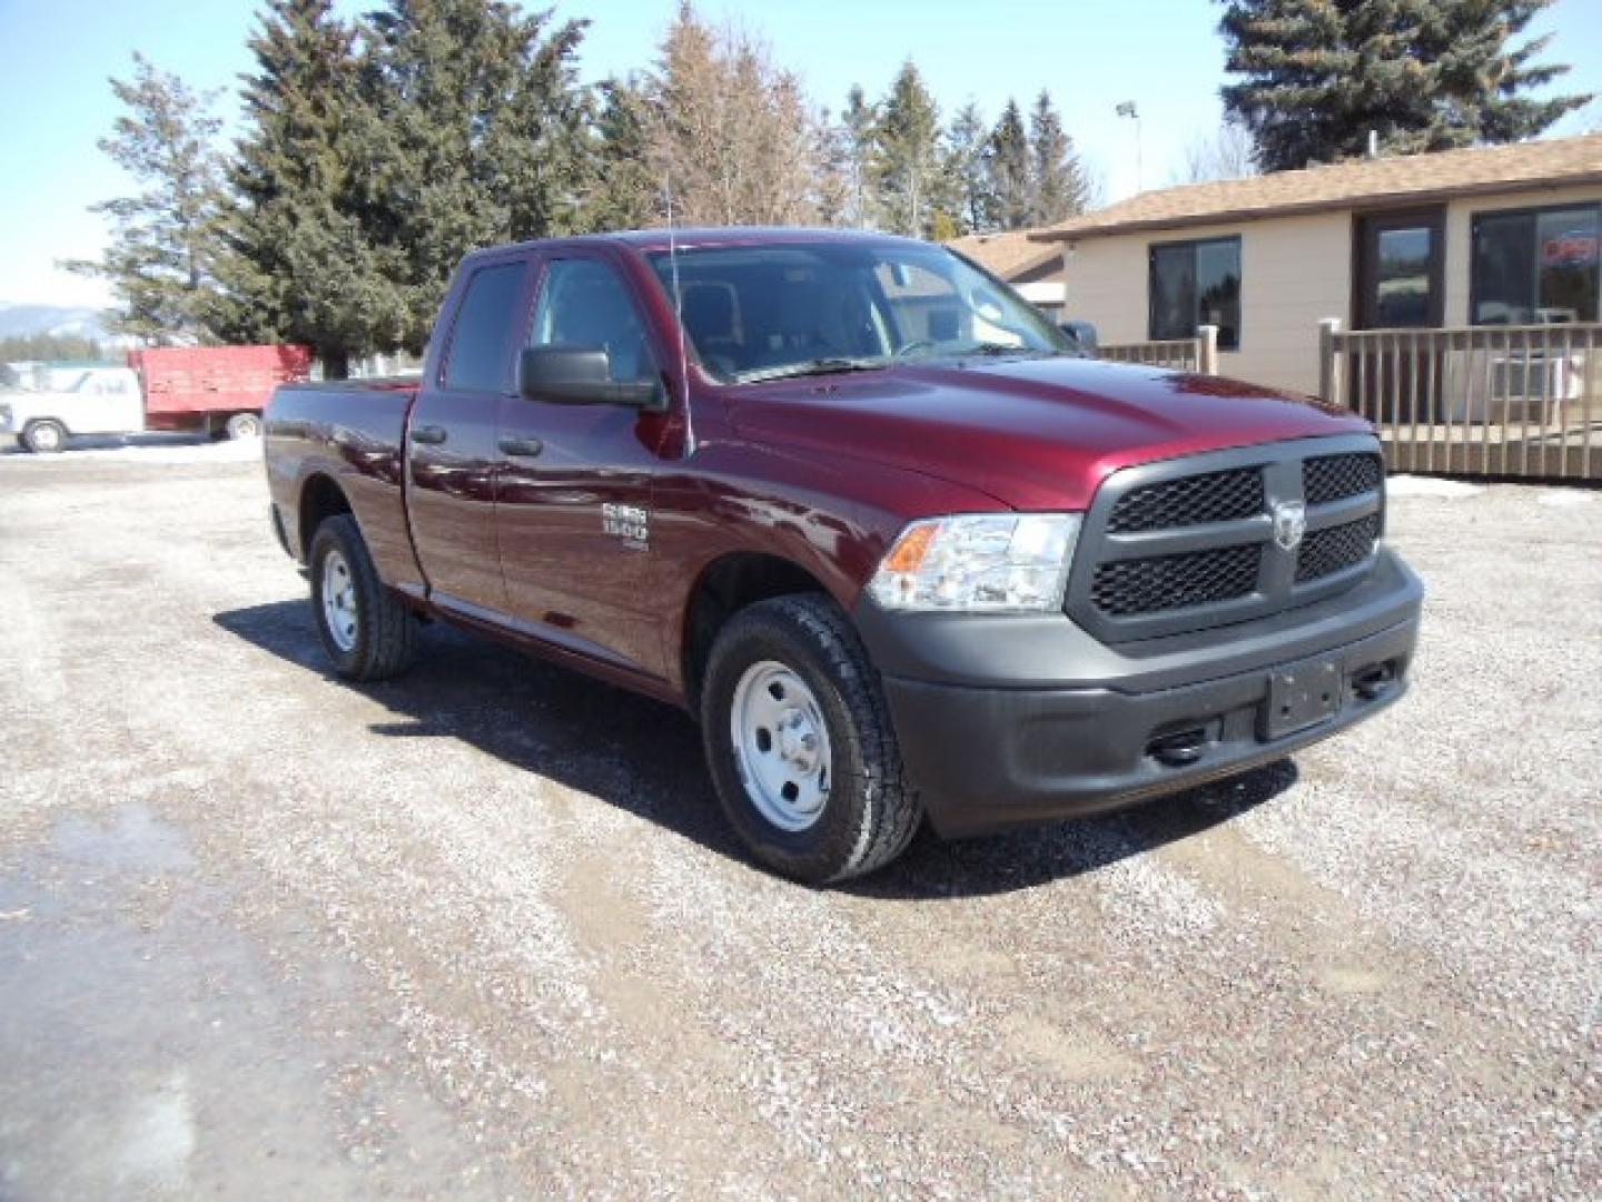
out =
[[1110,643],[1262,617],[1355,585],[1383,522],[1365,436],[1126,468],[1086,514],[1065,609]]

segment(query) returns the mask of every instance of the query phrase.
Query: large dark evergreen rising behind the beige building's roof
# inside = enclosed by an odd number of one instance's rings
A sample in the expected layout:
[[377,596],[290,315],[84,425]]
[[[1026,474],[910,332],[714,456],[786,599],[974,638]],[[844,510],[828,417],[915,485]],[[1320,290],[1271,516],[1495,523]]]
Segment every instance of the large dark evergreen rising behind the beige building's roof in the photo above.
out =
[[1511,45],[1551,0],[1224,0],[1226,112],[1258,162],[1288,170],[1365,152],[1506,143],[1589,96],[1520,93],[1567,67],[1536,66],[1546,38]]

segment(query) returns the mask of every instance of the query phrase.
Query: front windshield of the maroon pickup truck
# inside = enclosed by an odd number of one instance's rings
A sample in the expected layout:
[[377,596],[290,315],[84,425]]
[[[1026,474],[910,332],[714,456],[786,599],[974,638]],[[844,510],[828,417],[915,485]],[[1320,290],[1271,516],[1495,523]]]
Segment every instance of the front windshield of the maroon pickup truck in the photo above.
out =
[[[652,253],[650,264],[671,300],[668,253]],[[1077,353],[1004,284],[916,242],[687,247],[678,252],[678,288],[702,365],[732,383]]]

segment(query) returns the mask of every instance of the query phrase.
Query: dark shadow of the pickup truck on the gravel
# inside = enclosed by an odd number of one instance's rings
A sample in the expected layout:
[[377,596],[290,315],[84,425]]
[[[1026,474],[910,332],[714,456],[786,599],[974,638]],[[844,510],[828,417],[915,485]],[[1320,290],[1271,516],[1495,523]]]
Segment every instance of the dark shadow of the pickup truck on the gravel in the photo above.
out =
[[[327,678],[308,601],[215,614],[218,627]],[[394,681],[344,684],[389,708],[373,734],[460,739],[644,817],[747,864],[702,758],[700,732],[679,710],[434,623],[417,664]],[[846,891],[863,897],[969,897],[1043,885],[1198,835],[1296,782],[1282,760],[1232,782],[1096,819],[945,843],[924,829],[888,869]]]

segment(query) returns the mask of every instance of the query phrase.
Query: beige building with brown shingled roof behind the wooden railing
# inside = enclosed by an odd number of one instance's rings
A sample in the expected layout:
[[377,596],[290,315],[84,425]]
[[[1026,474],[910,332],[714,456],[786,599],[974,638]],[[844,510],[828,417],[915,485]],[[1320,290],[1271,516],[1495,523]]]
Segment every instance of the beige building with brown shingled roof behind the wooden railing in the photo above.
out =
[[[1219,372],[1318,388],[1318,322],[1431,329],[1602,321],[1602,135],[1375,159],[1142,192],[955,247],[1062,280],[1104,343],[1219,327]],[[1030,250],[1033,247],[1033,250]]]

